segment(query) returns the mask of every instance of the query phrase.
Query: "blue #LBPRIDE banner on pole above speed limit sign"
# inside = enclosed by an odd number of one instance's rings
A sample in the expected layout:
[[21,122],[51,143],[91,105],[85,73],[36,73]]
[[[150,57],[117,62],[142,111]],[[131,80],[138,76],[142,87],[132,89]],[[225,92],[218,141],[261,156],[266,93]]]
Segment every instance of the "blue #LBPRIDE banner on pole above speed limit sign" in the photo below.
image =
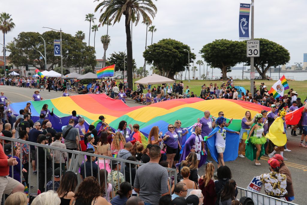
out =
[[251,4],[240,3],[239,12],[239,39],[250,39],[249,37],[249,14]]

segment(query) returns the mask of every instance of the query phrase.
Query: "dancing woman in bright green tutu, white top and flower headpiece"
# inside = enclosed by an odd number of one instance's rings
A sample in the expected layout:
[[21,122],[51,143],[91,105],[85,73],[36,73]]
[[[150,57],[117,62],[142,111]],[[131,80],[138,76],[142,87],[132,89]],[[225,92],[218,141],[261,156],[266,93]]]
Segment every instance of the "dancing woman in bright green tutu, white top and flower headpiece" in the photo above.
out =
[[[266,137],[263,132],[262,117],[262,114],[256,114],[256,123],[252,125],[248,137],[245,140],[245,156],[251,161],[255,160],[256,166],[261,165],[258,160],[264,154],[264,144],[266,143]],[[255,150],[255,147],[257,148],[257,151]]]

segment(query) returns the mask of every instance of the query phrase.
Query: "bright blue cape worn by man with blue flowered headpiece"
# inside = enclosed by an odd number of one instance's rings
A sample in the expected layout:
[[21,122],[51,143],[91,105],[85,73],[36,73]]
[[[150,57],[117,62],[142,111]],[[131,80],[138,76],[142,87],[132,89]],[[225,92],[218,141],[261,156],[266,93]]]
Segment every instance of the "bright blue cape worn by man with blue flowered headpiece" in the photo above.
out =
[[[210,150],[211,156],[212,158],[217,162],[218,156],[219,154],[216,151],[216,147],[215,147],[215,140],[216,140],[216,132],[220,129],[219,126],[217,126],[216,128],[214,128],[212,130],[212,132],[210,132],[208,134],[208,136],[213,135],[212,137],[210,137],[206,143],[208,145],[208,148]],[[228,161],[233,161],[238,157],[238,150],[239,150],[239,135],[236,133],[231,133],[231,132],[235,132],[231,129],[228,129],[227,127],[224,127],[224,129],[226,131],[230,131],[230,132],[226,132],[226,147],[225,147],[225,152],[224,152],[224,161],[228,162]]]

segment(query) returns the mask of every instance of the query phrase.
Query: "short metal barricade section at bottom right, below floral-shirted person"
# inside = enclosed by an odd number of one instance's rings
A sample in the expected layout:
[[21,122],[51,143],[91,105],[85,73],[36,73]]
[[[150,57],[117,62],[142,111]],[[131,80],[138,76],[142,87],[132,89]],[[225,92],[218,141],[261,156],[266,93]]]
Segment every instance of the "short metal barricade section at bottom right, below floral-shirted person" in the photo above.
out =
[[240,199],[243,196],[247,196],[250,197],[253,200],[253,202],[258,205],[298,205],[296,203],[281,200],[273,196],[257,193],[241,187],[237,188],[239,189],[239,193],[237,196],[238,199]]

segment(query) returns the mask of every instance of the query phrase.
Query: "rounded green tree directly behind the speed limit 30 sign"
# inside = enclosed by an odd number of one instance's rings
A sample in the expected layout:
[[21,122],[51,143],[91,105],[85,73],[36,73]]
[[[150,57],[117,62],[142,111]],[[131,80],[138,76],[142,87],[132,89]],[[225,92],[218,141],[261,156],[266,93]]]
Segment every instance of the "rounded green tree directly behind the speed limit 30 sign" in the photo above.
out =
[[[266,80],[266,72],[270,67],[286,64],[290,61],[290,53],[282,45],[273,41],[256,38],[260,40],[260,57],[254,57],[254,66],[263,80]],[[246,41],[245,48],[246,48]],[[246,57],[246,65],[251,65],[251,59]]]

